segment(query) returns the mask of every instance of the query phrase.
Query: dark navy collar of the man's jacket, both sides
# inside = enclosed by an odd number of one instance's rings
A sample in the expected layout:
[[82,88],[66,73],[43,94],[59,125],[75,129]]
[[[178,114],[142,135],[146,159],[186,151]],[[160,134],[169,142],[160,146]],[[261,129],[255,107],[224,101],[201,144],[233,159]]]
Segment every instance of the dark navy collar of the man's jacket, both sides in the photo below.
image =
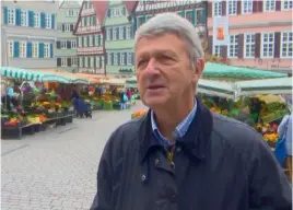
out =
[[[180,143],[191,152],[197,159],[204,159],[210,145],[210,138],[213,128],[211,112],[199,101],[197,107],[197,117],[194,118],[189,129],[186,132],[186,140]],[[149,151],[153,147],[162,147],[153,137],[151,125],[151,109],[143,117],[139,133],[140,159],[144,161]]]

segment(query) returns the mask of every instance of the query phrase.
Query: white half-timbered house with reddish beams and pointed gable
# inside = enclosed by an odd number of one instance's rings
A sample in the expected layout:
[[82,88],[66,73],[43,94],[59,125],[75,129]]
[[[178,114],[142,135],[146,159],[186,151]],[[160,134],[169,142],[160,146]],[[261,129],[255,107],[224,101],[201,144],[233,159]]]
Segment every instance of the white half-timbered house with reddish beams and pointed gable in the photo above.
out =
[[104,18],[107,1],[83,1],[73,34],[78,38],[79,71],[105,74]]

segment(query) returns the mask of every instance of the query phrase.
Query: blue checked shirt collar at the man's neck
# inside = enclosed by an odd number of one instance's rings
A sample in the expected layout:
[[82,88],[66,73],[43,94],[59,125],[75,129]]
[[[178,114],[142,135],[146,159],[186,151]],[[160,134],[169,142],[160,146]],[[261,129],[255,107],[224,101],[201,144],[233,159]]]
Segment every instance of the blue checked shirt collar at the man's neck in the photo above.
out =
[[[191,121],[196,117],[196,113],[197,113],[197,100],[195,100],[195,107],[191,110],[191,113],[189,113],[189,115],[173,131],[172,136],[175,140],[178,140],[185,136]],[[154,133],[156,140],[159,140],[165,147],[169,147],[169,145],[175,144],[175,142],[171,142],[167,138],[165,138],[161,135],[161,132],[157,129],[157,126],[155,124],[153,110],[151,112],[151,124],[152,124],[153,133]]]

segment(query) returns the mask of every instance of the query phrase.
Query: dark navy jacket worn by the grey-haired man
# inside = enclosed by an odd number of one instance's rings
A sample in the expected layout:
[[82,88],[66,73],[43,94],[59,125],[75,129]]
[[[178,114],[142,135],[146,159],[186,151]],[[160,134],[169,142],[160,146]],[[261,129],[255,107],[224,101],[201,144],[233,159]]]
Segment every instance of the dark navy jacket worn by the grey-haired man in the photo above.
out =
[[92,210],[291,210],[291,186],[253,128],[198,103],[175,168],[154,139],[150,112],[109,138]]

